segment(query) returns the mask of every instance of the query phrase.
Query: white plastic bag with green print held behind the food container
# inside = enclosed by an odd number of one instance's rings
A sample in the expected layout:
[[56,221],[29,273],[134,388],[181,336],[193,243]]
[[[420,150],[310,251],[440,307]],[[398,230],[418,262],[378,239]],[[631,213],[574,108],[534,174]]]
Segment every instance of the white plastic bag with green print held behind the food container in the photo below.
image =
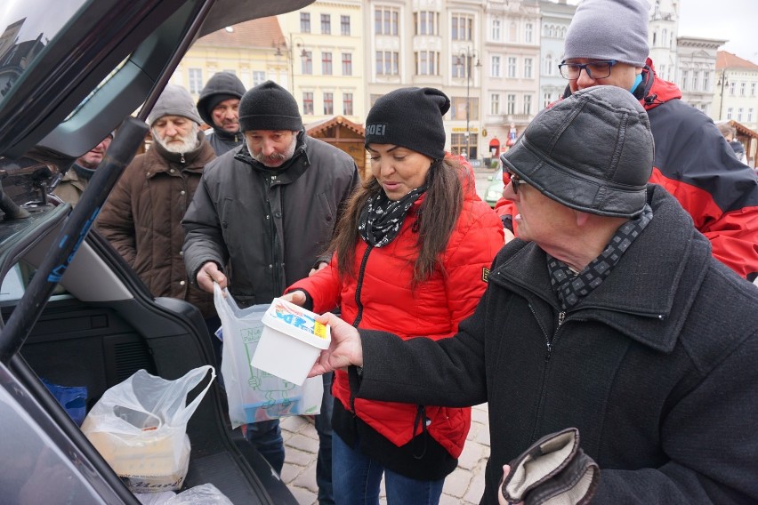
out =
[[222,293],[215,283],[214,303],[222,321],[222,376],[232,428],[287,415],[320,413],[324,395],[320,376],[296,386],[250,365],[261,340],[261,318],[270,304],[239,309],[229,291]]

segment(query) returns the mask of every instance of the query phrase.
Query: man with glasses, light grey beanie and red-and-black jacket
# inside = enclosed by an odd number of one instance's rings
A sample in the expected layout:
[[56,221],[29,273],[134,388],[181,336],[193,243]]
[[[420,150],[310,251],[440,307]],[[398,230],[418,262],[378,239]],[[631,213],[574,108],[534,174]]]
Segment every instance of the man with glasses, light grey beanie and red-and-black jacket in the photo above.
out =
[[[758,276],[758,180],[730,155],[713,121],[682,102],[676,84],[656,75],[648,58],[648,13],[645,0],[579,4],[559,65],[568,79],[564,98],[602,84],[632,92],[648,112],[656,145],[649,181],[679,200],[717,260],[753,281]],[[586,132],[584,140],[593,148],[593,132]],[[514,210],[504,199],[496,205],[506,228]]]

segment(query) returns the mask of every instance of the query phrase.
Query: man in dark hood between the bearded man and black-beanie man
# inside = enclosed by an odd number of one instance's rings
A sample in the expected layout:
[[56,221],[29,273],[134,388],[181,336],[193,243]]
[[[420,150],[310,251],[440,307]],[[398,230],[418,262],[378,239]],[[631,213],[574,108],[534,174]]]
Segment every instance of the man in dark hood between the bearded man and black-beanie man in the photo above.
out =
[[245,85],[231,72],[214,74],[198,99],[198,112],[213,130],[206,138],[216,156],[242,145],[239,131],[239,100],[245,94]]

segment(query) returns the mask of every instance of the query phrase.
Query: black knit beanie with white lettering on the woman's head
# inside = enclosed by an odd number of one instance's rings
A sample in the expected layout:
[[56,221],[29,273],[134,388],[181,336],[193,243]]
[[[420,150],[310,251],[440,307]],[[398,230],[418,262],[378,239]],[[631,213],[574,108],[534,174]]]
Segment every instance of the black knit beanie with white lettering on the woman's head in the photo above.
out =
[[446,139],[442,116],[449,109],[448,95],[434,88],[389,92],[368,111],[365,145],[392,144],[442,159]]

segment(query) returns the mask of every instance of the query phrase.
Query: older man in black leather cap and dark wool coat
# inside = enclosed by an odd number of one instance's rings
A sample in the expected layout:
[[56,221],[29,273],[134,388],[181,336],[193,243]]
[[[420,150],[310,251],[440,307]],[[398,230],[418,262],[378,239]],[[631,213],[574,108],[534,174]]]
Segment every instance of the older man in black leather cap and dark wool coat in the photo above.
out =
[[401,341],[325,315],[311,373],[359,367],[360,398],[488,402],[483,504],[758,501],[758,290],[648,184],[653,159],[624,89],[544,109],[501,156],[519,236],[458,333]]

